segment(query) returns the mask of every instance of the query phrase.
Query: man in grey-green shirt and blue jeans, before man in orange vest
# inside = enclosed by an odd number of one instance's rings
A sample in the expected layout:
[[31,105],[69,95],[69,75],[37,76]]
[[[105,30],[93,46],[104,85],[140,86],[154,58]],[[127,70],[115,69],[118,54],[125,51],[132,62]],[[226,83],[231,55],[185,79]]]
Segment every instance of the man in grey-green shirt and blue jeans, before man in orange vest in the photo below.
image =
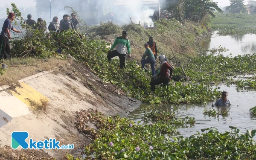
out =
[[[145,64],[150,64],[151,66],[151,72],[152,72],[152,76],[155,75],[155,63],[156,63],[156,59],[154,58],[154,53],[151,51],[148,43],[145,43],[144,44],[144,47],[145,47],[145,53],[144,55],[142,56],[142,59],[141,59],[141,67],[144,68]],[[145,57],[148,57],[147,59],[145,59]]]

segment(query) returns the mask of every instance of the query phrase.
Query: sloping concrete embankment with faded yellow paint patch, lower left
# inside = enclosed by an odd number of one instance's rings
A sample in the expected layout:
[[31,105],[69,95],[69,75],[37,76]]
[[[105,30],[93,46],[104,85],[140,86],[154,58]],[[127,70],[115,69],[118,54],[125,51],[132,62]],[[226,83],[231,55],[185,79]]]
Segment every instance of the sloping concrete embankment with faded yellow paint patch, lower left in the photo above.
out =
[[[76,72],[79,77],[72,72],[45,71],[21,79],[16,86],[0,86],[0,148],[11,146],[12,132],[26,131],[27,142],[30,138],[35,141],[55,138],[61,145],[74,144],[73,150],[36,150],[61,159],[66,153],[78,153],[90,143],[74,128],[76,111],[93,108],[107,115],[125,116],[141,104],[137,99],[123,96],[115,86],[105,84],[87,69],[80,67]],[[42,100],[49,102],[46,111],[34,106]]]

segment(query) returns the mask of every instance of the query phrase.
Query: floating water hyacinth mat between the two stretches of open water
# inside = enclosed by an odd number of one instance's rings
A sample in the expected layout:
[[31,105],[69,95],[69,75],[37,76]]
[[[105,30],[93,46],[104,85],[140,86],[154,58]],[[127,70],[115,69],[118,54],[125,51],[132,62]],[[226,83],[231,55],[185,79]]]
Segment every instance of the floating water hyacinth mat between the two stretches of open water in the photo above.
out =
[[194,81],[233,82],[233,77],[240,74],[252,74],[256,71],[256,55],[238,55],[235,57],[207,55],[194,58],[189,64],[187,75]]

